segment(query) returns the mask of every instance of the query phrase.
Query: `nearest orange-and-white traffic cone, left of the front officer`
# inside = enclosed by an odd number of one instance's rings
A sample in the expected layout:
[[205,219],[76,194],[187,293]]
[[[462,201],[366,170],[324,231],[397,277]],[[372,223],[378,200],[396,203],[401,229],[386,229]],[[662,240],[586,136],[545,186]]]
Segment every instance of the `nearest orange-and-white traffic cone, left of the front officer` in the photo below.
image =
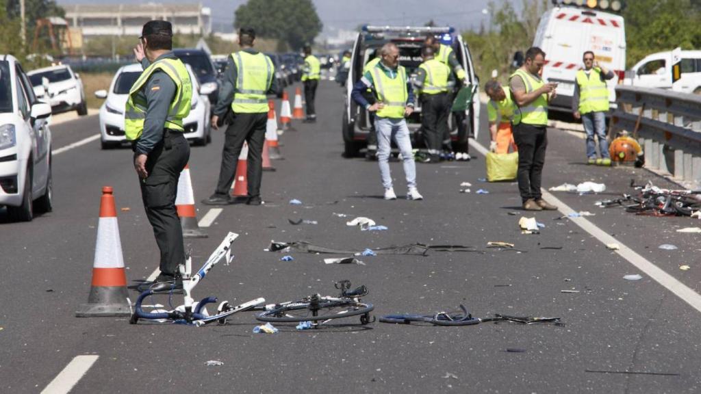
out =
[[130,305],[127,297],[127,276],[124,272],[117,210],[114,208],[111,186],[104,186],[100,200],[100,221],[97,222],[93,282],[90,285],[88,304],[79,306],[76,317],[128,316]]

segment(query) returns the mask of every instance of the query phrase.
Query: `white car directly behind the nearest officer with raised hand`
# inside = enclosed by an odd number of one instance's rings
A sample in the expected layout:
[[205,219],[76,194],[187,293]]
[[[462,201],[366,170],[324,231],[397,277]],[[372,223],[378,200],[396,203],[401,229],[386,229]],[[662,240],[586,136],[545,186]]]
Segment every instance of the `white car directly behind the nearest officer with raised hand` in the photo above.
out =
[[[183,119],[185,138],[193,140],[196,145],[204,146],[212,140],[210,125],[210,100],[200,92],[200,85],[189,65],[185,65],[192,81],[192,104],[190,114]],[[100,107],[100,142],[102,149],[116,147],[126,141],[124,135],[124,111],[129,97],[129,90],[139,78],[141,64],[129,64],[118,69],[107,90],[97,90],[95,97],[107,99]]]

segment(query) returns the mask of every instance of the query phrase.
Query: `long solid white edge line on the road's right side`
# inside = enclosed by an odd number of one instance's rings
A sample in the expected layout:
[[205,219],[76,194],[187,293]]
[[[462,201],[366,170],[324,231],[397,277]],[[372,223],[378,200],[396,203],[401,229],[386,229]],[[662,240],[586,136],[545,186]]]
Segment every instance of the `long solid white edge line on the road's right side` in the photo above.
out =
[[[482,146],[482,144],[479,144],[479,142],[470,140],[470,146],[477,149],[477,151],[479,151],[479,153],[482,155],[486,155],[487,150]],[[554,205],[557,205],[559,211],[565,216],[571,214],[572,212],[577,212],[576,210],[570,208],[569,205],[559,201],[558,198],[553,196],[551,193],[548,193],[545,189],[543,189],[543,197]],[[584,217],[573,217],[570,220],[580,226],[584,231],[587,231],[587,233],[590,233],[591,236],[597,238],[597,240],[604,245],[609,243],[618,243],[620,249],[616,250],[615,252],[618,253],[620,257],[626,259],[637,269],[643,271],[647,274],[647,276],[653,278],[657,283],[660,283],[660,285],[674,293],[676,297],[681,298],[684,302],[701,312],[701,294],[698,294],[687,285],[684,285],[679,280],[674,278],[674,276],[669,275],[669,273],[660,269],[660,267],[656,266],[645,257],[637,254],[637,252],[634,252],[631,248],[621,243],[620,240],[608,235],[606,231],[599,229],[599,227],[590,222],[588,219],[585,219]]]

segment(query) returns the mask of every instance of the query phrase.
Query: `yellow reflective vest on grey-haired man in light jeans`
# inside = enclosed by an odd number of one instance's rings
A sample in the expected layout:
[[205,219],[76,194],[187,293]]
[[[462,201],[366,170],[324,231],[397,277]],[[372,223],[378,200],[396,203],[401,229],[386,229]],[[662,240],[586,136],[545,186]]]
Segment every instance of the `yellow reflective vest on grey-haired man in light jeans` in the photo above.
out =
[[388,77],[380,67],[372,69],[372,83],[377,93],[377,101],[385,104],[377,111],[381,118],[404,118],[404,108],[407,107],[407,72],[404,67],[397,67],[394,79]]

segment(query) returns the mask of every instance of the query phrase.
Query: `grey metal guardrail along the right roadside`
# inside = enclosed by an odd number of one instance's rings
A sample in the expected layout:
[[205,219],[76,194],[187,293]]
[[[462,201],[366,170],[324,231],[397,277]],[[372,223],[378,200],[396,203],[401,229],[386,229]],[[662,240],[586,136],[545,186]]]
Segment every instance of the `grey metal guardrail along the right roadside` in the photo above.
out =
[[616,86],[612,131],[627,130],[645,152],[645,167],[701,185],[701,95]]

